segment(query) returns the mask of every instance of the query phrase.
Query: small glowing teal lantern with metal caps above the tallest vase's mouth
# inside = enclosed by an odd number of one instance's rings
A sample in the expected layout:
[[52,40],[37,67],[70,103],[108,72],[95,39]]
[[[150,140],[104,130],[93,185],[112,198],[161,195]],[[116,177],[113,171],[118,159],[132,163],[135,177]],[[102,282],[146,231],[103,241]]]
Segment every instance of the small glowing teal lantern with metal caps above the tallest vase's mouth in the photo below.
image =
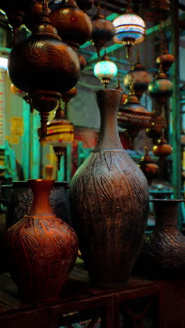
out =
[[104,53],[101,62],[97,62],[94,67],[94,74],[97,78],[100,78],[100,81],[104,85],[104,88],[107,88],[107,84],[111,81],[111,78],[114,78],[118,72],[116,64],[109,60],[109,57]]

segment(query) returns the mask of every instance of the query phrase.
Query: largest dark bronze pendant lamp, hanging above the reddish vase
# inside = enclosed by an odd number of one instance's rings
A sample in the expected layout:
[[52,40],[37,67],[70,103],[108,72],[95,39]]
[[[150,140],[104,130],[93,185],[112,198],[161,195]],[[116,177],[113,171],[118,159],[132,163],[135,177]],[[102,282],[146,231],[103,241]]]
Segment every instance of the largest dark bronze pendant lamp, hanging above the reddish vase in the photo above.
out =
[[47,133],[48,113],[61,94],[75,86],[80,75],[76,51],[63,43],[48,19],[43,1],[41,22],[29,38],[18,43],[9,55],[8,73],[12,83],[28,93],[41,115],[41,136]]

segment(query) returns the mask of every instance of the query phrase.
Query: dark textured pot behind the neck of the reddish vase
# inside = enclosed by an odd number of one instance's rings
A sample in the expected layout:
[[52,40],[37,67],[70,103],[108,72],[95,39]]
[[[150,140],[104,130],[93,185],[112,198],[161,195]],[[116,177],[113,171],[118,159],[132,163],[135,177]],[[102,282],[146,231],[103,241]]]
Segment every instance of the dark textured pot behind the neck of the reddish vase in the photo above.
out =
[[[1,188],[4,193],[6,189],[11,189],[11,185],[1,186]],[[33,203],[32,189],[28,186],[27,181],[13,182],[12,189],[13,191],[9,193],[10,199],[6,203],[6,228],[10,228],[25,214],[28,214]],[[57,217],[71,225],[68,189],[68,182],[55,182],[50,191],[49,200]]]

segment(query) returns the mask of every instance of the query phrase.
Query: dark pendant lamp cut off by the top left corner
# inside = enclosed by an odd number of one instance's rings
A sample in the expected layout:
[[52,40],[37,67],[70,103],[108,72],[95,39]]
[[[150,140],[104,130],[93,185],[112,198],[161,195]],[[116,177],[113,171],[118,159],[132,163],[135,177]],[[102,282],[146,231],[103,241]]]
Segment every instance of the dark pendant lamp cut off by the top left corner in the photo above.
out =
[[24,23],[25,15],[32,10],[34,0],[1,1],[0,10],[6,13],[8,24],[13,29],[14,45],[17,42],[18,28]]

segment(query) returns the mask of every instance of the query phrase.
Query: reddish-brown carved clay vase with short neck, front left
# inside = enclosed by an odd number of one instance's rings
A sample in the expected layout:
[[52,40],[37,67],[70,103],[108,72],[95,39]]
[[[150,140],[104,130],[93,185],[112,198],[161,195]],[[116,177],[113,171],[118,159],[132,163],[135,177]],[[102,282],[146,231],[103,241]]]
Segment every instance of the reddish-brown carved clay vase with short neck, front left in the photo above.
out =
[[34,200],[25,215],[6,232],[11,276],[27,301],[57,299],[74,265],[78,238],[53,214],[49,194],[53,180],[29,180]]

